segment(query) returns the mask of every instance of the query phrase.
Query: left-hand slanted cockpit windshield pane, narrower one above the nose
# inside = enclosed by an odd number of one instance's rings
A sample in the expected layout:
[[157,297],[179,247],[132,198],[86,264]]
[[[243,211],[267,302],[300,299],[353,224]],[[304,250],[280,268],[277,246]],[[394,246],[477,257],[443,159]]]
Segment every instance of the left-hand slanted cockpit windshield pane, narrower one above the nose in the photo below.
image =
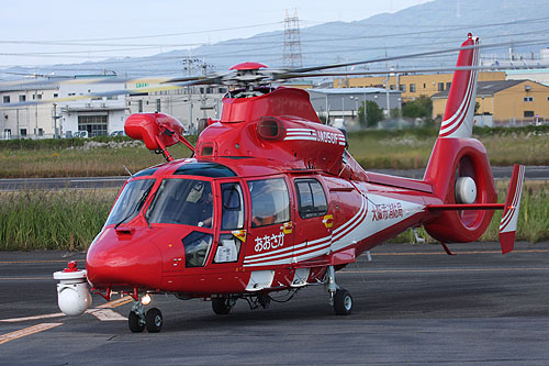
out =
[[105,225],[120,225],[135,218],[143,208],[154,184],[155,179],[137,179],[125,185],[107,219]]

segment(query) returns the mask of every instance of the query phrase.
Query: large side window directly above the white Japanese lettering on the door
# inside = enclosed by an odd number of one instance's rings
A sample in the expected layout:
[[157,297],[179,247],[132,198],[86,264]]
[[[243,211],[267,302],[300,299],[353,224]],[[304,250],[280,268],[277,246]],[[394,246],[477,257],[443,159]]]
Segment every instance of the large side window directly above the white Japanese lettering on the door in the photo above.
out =
[[290,196],[283,178],[248,181],[251,228],[290,221]]

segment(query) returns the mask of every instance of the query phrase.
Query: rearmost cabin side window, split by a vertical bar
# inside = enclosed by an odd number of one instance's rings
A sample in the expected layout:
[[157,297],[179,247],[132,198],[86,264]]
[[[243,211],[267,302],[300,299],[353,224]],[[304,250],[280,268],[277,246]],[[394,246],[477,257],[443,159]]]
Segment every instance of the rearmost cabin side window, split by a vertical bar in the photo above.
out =
[[302,219],[322,217],[328,211],[326,195],[316,179],[295,179],[298,207]]

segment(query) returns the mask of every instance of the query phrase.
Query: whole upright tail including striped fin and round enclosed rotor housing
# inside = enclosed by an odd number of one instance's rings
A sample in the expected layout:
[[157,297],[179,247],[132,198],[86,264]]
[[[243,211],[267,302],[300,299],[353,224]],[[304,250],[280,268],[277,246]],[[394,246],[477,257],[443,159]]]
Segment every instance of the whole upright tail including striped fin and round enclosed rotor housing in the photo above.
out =
[[[463,42],[458,57],[458,67],[473,67],[479,63],[478,38],[471,34]],[[457,69],[448,96],[446,112],[438,138],[425,170],[424,181],[445,206],[490,204],[497,200],[492,169],[486,149],[478,140],[471,138],[474,99],[477,96],[477,70]],[[467,182],[464,190],[462,182]],[[467,191],[470,193],[466,195]],[[493,211],[456,210],[444,211],[425,224],[427,232],[446,243],[474,242],[486,230]]]

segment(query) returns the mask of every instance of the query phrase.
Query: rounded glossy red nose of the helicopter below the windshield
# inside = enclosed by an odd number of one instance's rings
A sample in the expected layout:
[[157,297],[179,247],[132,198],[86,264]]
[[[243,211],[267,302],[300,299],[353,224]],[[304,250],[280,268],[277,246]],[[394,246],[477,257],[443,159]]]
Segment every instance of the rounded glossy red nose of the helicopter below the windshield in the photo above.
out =
[[88,280],[93,287],[160,287],[160,251],[137,236],[107,229],[94,241],[86,256]]

